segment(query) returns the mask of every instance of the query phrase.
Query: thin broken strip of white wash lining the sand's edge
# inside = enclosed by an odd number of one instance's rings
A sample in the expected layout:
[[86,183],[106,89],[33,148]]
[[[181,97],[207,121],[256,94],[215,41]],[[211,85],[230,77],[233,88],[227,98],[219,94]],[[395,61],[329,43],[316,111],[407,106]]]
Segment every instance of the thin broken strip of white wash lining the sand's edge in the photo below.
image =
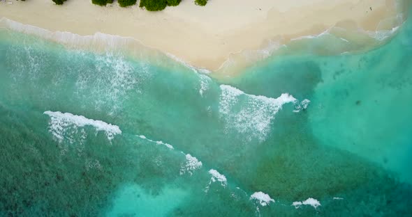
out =
[[[402,18],[402,14],[398,15],[399,20],[404,20]],[[75,33],[70,33],[66,31],[48,31],[46,29],[41,29],[37,26],[31,26],[29,24],[22,24],[20,22],[15,22],[11,19],[7,19],[6,17],[0,18],[0,26],[6,26],[8,29],[12,29],[13,31],[19,31],[21,33],[27,33],[31,35],[37,35],[47,40],[54,40],[56,42],[60,42],[65,45],[78,45],[78,46],[86,46],[86,47],[104,47],[105,49],[117,49],[121,47],[128,47],[131,42],[138,42],[139,45],[144,45],[142,42],[135,38],[131,37],[124,37],[120,35],[109,35],[105,33],[95,33],[94,35],[78,35]],[[360,33],[367,33],[372,38],[376,38],[376,40],[385,40],[386,38],[393,35],[399,26],[385,31],[362,31]],[[314,39],[320,38],[323,35],[330,35],[330,31],[333,28],[337,28],[332,26],[330,29],[326,29],[322,33],[318,35],[305,35],[299,38],[293,38],[293,40],[302,40],[302,39]],[[345,38],[341,38],[341,40],[348,42]],[[96,46],[96,45],[104,45],[104,46]],[[145,47],[149,47],[145,45]],[[242,61],[253,63],[263,58],[267,58],[268,56],[272,56],[273,52],[279,49],[280,47],[286,47],[286,45],[281,45],[279,40],[270,40],[267,43],[267,46],[263,49],[256,49],[256,50],[242,50],[237,53],[233,53],[234,56],[242,56]],[[153,49],[153,47],[149,47],[149,49]],[[181,63],[182,65],[190,68],[193,72],[198,72],[200,74],[209,74],[210,71],[201,68],[201,67],[194,67],[189,63],[186,63],[177,56],[174,56],[169,53],[164,53],[169,58],[172,58],[174,61]],[[242,62],[240,61],[240,62]],[[235,61],[232,57],[228,58],[225,62],[221,64],[217,71],[225,72],[227,68],[232,66],[238,65],[239,61]]]

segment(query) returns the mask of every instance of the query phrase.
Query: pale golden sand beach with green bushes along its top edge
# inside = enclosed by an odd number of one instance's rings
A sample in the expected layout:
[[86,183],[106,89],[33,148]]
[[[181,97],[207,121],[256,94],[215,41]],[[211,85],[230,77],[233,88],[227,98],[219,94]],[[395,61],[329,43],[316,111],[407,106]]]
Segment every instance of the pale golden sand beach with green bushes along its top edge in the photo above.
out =
[[318,35],[332,26],[390,30],[399,25],[402,10],[395,0],[209,0],[205,7],[183,0],[160,12],[137,5],[120,8],[116,1],[106,7],[88,0],[68,0],[62,6],[51,0],[7,1],[13,3],[0,2],[0,17],[50,31],[135,38],[211,71],[242,51]]

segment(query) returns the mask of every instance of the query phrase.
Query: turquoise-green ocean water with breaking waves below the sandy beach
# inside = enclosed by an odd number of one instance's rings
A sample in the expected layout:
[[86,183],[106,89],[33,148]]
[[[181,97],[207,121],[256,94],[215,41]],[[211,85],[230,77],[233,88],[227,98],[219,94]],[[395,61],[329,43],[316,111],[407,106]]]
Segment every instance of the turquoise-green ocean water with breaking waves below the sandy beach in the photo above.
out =
[[0,29],[0,216],[411,216],[411,20],[226,79],[161,61]]

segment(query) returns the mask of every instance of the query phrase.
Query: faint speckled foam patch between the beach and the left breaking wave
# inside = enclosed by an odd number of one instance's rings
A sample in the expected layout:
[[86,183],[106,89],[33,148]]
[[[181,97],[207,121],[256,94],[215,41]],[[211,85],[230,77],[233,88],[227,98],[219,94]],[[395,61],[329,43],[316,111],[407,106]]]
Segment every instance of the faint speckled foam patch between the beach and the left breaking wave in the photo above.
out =
[[79,72],[78,92],[84,95],[84,92],[91,91],[94,96],[91,102],[97,110],[115,114],[128,98],[128,92],[140,92],[139,84],[150,77],[149,69],[144,62],[132,65],[123,56],[110,52],[94,58],[94,68]]

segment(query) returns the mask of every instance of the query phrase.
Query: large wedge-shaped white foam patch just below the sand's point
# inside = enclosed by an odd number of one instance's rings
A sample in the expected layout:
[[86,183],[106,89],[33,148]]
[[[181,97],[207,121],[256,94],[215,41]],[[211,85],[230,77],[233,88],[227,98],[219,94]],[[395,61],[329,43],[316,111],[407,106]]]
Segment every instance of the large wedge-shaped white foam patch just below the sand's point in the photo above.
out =
[[[265,140],[270,124],[281,106],[290,102],[297,103],[297,99],[288,93],[274,99],[249,95],[228,85],[221,85],[220,88],[219,113],[226,120],[226,129],[233,128],[239,133],[247,134],[249,140]],[[244,104],[238,106],[240,102]],[[307,106],[306,101],[304,105]]]

